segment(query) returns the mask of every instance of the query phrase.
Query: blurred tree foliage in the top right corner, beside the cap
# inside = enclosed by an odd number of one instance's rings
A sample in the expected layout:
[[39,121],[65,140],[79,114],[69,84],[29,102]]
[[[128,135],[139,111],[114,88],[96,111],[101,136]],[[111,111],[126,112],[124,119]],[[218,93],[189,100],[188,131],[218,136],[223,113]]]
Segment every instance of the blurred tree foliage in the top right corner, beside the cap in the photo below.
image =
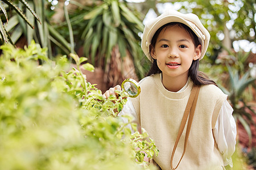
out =
[[218,38],[218,35],[224,35],[226,23],[229,25],[228,31],[230,36],[225,36],[230,38],[231,43],[236,40],[255,42],[255,36],[250,35],[256,33],[254,19],[256,14],[255,0],[189,0],[174,3],[182,5],[181,11],[193,12],[199,16],[205,28],[208,29],[210,44],[207,57],[212,63],[214,63],[218,54],[222,51],[221,48],[224,48],[224,46],[233,48],[233,44],[225,45],[222,39]]

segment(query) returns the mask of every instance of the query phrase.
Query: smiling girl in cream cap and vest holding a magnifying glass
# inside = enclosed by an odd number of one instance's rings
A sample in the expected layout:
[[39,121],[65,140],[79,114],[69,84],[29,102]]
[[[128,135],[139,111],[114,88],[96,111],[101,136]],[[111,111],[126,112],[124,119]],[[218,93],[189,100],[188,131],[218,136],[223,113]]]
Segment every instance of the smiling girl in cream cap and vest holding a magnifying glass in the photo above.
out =
[[[120,114],[132,114],[155,140],[159,156],[154,162],[160,169],[232,166],[236,145],[233,109],[216,83],[197,71],[209,38],[195,14],[168,10],[145,25],[142,49],[152,67],[139,82],[141,94],[128,99]],[[192,123],[189,116],[184,124],[192,88],[199,86]],[[117,89],[121,87],[110,88],[104,96],[114,95]]]

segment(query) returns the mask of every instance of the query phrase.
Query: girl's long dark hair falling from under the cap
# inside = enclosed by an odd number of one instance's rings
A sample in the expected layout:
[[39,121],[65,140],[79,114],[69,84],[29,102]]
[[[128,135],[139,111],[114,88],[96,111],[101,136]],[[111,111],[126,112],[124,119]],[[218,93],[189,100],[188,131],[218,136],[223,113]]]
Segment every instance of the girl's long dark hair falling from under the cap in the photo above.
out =
[[[180,28],[184,28],[185,31],[188,32],[188,34],[192,37],[192,40],[193,40],[193,43],[195,46],[198,46],[200,45],[200,42],[199,42],[199,39],[198,37],[196,36],[196,34],[192,31],[191,28],[189,28],[187,25],[183,24],[183,23],[176,23],[176,22],[173,22],[173,23],[167,23],[165,25],[163,25],[162,27],[160,27],[154,34],[154,36],[152,37],[152,40],[151,40],[151,44],[150,44],[150,51],[149,53],[151,54],[151,50],[153,50],[155,48],[155,44],[156,44],[156,39],[158,38],[160,32],[163,30],[163,29],[166,29],[167,27],[171,27],[171,26],[174,26],[174,25],[177,25],[179,26]],[[152,58],[152,57],[151,57]],[[188,76],[190,76],[192,82],[195,84],[195,85],[207,85],[207,84],[214,84],[217,86],[217,84],[213,81],[213,80],[210,80],[209,77],[204,74],[203,72],[201,71],[198,71],[199,69],[199,59],[197,60],[193,60],[192,61],[192,64],[191,64],[191,67],[189,68],[188,70]],[[157,74],[157,73],[162,73],[162,71],[159,69],[158,65],[157,65],[157,62],[156,62],[156,59],[152,58],[152,66],[151,66],[151,69],[150,71],[148,71],[148,74],[147,76],[149,75],[152,75],[152,74]]]

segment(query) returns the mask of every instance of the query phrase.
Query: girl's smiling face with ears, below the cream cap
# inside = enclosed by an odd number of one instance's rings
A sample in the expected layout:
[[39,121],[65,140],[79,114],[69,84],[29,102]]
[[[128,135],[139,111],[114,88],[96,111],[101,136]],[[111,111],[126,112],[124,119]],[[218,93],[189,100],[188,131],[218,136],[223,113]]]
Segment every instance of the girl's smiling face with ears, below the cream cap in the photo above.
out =
[[162,29],[150,53],[156,59],[163,78],[183,77],[187,81],[193,59],[200,58],[201,45],[195,47],[184,28],[172,25]]

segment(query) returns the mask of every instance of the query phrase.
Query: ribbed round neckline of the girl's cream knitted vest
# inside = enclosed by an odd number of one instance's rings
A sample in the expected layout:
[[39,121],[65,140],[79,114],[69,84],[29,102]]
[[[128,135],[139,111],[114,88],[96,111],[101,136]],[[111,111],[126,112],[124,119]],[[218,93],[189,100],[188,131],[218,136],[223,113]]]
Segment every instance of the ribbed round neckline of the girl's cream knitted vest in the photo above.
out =
[[190,81],[190,83],[188,84],[188,87],[185,88],[184,91],[182,92],[171,92],[168,91],[162,83],[162,80],[160,78],[160,74],[154,74],[152,75],[152,78],[154,79],[154,82],[156,84],[156,87],[158,88],[158,90],[166,97],[171,98],[171,99],[183,99],[184,97],[187,97],[191,94],[191,90],[193,87],[193,82]]

